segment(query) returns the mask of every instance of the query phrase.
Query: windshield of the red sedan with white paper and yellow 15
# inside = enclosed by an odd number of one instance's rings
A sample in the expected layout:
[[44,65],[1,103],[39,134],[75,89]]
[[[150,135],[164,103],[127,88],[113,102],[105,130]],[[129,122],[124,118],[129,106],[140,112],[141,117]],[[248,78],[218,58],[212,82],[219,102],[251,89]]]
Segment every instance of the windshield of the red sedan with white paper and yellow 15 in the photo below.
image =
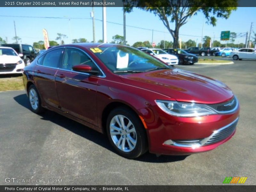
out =
[[90,50],[113,73],[138,73],[160,68],[169,68],[153,56],[131,47],[96,47],[90,48]]

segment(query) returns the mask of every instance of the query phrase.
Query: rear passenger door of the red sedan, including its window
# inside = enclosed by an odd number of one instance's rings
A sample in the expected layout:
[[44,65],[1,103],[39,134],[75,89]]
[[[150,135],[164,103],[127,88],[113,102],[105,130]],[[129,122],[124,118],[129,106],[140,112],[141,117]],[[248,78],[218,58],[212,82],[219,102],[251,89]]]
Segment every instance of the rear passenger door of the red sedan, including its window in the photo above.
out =
[[54,49],[36,59],[34,73],[34,80],[42,102],[55,108],[60,106],[55,87],[55,76],[63,50],[63,48]]

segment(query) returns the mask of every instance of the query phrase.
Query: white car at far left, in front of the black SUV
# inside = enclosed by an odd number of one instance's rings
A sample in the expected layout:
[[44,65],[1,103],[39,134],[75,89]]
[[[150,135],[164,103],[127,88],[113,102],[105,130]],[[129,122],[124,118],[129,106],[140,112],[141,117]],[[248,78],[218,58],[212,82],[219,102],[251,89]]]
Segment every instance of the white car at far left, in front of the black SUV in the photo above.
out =
[[11,47],[0,47],[0,74],[22,73],[25,67],[22,56]]

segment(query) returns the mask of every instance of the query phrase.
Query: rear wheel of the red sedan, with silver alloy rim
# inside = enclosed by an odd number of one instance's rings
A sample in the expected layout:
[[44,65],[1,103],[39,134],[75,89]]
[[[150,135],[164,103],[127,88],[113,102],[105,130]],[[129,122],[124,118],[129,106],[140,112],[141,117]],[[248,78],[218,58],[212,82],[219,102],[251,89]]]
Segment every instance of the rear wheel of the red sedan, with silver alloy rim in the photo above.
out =
[[41,105],[41,98],[35,85],[30,85],[30,87],[28,88],[28,98],[30,109],[32,112],[38,114],[44,111],[44,108]]

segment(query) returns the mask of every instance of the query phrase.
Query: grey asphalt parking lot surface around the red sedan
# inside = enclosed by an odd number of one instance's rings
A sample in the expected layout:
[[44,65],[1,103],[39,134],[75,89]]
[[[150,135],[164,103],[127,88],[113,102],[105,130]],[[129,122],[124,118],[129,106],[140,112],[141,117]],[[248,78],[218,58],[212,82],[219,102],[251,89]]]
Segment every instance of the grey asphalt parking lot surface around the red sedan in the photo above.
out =
[[218,79],[233,90],[241,111],[231,140],[190,156],[146,153],[129,160],[112,150],[105,135],[51,111],[32,113],[25,91],[0,92],[0,185],[13,184],[5,183],[6,177],[62,179],[39,183],[62,185],[221,185],[225,177],[236,176],[248,177],[245,185],[255,184],[256,61],[177,68]]

